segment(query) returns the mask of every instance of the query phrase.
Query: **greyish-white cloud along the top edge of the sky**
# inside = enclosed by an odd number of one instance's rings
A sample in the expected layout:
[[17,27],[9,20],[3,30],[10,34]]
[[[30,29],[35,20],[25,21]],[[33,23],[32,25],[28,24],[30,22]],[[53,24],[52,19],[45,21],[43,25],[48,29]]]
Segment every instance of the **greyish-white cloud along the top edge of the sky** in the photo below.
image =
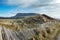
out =
[[22,7],[37,6],[53,3],[54,0],[7,0],[8,5],[20,5]]

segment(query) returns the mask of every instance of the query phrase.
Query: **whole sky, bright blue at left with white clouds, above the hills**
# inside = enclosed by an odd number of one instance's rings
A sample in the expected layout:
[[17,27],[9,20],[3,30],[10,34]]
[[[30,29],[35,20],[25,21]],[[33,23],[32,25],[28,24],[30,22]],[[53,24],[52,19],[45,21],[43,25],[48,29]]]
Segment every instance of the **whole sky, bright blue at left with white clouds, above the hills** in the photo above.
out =
[[60,0],[0,0],[0,16],[40,13],[60,18]]

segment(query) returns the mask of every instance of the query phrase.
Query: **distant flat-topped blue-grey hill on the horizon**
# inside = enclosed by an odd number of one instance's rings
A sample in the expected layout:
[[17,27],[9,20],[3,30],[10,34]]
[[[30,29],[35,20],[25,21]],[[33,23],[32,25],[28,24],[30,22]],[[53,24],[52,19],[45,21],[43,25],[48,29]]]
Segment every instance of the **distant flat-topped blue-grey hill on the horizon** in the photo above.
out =
[[38,15],[37,13],[17,13],[12,17],[0,17],[0,19],[20,19],[24,17]]

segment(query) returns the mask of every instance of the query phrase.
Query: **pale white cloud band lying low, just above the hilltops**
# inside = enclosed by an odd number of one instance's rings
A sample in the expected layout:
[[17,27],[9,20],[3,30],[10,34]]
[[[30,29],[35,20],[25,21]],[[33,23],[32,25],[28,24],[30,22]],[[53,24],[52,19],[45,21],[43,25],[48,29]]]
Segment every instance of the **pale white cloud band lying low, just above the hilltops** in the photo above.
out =
[[9,13],[11,13],[10,15],[15,15],[18,12],[19,13],[21,13],[21,12],[23,12],[23,13],[28,13],[28,12],[40,13],[40,14],[47,14],[54,18],[60,18],[60,4],[52,5],[52,6],[50,5],[50,6],[36,7],[36,8],[28,9],[28,10],[20,10],[18,7],[16,10],[12,10]]

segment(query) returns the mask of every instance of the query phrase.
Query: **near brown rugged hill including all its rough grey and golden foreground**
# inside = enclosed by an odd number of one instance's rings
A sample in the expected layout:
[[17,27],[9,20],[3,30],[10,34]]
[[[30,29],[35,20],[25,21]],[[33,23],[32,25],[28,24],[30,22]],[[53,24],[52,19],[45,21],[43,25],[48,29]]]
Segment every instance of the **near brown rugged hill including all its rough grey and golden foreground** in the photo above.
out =
[[0,40],[57,40],[60,22],[45,14],[1,19]]

